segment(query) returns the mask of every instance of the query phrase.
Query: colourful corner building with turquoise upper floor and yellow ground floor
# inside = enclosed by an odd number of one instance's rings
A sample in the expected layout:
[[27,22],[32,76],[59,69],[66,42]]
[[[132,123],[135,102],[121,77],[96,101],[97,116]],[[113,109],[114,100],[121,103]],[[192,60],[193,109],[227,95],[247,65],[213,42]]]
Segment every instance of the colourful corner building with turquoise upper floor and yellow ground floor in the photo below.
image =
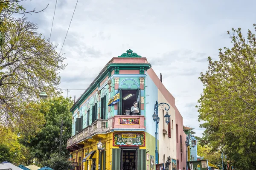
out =
[[[147,59],[129,49],[105,65],[70,109],[72,137],[67,149],[76,170],[96,170],[99,164],[102,170],[155,170],[156,123],[152,115],[154,105],[160,102],[170,106],[171,121],[167,125],[159,111],[157,162],[165,163],[170,156],[176,170],[185,167],[181,142],[186,136],[175,99]],[[97,150],[100,140],[101,154]]]

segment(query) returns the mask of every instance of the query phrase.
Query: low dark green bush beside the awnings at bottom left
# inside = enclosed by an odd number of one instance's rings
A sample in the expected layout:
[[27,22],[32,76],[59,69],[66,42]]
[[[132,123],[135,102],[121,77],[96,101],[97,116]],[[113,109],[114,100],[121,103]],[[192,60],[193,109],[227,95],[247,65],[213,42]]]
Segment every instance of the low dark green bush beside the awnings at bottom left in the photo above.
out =
[[67,157],[61,156],[58,153],[51,154],[51,158],[42,162],[43,165],[51,167],[54,170],[72,170],[72,162],[67,160]]

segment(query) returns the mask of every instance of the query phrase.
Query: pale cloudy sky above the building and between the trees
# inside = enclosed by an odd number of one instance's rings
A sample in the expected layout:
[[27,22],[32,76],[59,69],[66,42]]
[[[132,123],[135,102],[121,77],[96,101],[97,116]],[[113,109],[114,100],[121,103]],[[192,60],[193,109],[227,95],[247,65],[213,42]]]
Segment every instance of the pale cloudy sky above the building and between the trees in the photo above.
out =
[[[28,20],[49,38],[55,0],[26,0]],[[76,0],[57,0],[51,41],[61,46]],[[218,59],[218,49],[231,47],[227,31],[256,23],[255,0],[78,0],[62,53],[68,64],[61,71],[62,89],[86,89],[112,57],[131,48],[146,57],[163,84],[175,97],[183,125],[199,125],[195,106],[203,85],[198,79],[208,68],[207,57]],[[67,96],[67,92],[64,96]],[[84,90],[70,90],[78,99]]]

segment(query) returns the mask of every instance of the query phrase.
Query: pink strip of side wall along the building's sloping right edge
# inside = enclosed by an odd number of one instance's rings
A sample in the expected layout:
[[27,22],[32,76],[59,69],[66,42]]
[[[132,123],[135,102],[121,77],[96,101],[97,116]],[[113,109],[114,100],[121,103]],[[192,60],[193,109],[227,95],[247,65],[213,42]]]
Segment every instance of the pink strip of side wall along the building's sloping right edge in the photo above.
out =
[[[170,94],[170,92],[164,87],[163,83],[157,77],[155,72],[152,68],[147,71],[149,77],[153,80],[154,84],[157,86],[159,91],[163,94],[166,100],[170,103],[172,108],[175,109],[175,121],[178,125],[178,143],[176,144],[176,154],[177,154],[177,162],[179,161],[179,169],[183,170],[183,167],[186,169],[186,134],[183,132],[183,117],[181,116],[180,112],[178,111],[177,107],[175,106],[175,98]],[[176,129],[176,125],[175,125]],[[182,144],[183,144],[183,151],[180,151],[180,135],[182,136]],[[182,153],[182,161],[181,161],[181,153]],[[178,168],[178,167],[177,167]],[[178,169],[177,169],[178,170]]]

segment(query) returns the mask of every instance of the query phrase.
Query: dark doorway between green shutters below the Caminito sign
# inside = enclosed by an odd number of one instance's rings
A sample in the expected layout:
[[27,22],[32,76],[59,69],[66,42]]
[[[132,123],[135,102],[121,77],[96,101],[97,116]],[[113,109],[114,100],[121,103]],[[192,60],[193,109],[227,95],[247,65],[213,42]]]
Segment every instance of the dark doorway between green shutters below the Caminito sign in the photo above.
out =
[[121,149],[121,170],[137,170],[137,149]]

